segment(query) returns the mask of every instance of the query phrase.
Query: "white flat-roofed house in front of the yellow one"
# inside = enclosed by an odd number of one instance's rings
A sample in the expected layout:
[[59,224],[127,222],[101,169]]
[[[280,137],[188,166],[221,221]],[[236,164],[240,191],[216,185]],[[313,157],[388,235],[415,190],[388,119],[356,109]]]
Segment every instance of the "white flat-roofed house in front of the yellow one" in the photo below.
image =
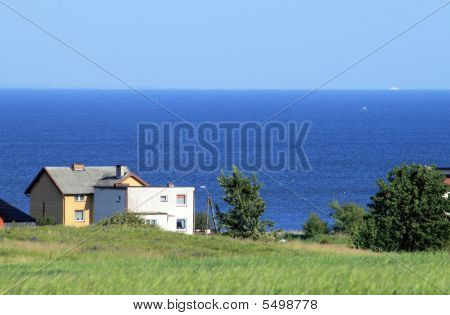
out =
[[131,211],[144,217],[148,224],[187,234],[194,233],[194,187],[96,186],[94,188],[94,221],[114,213]]

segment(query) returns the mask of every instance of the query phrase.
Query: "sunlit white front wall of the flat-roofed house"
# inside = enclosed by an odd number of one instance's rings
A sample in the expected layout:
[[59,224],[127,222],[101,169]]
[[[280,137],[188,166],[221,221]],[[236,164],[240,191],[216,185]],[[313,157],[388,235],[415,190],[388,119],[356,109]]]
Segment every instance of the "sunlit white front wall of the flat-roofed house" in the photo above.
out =
[[[194,187],[129,187],[127,191],[130,211],[142,213],[144,217],[149,216],[149,213],[167,213],[167,226],[158,222],[162,228],[173,232],[194,233]],[[176,204],[178,194],[186,195],[186,205]],[[167,196],[167,202],[161,201],[161,195]],[[177,230],[177,219],[186,219],[185,230]]]

